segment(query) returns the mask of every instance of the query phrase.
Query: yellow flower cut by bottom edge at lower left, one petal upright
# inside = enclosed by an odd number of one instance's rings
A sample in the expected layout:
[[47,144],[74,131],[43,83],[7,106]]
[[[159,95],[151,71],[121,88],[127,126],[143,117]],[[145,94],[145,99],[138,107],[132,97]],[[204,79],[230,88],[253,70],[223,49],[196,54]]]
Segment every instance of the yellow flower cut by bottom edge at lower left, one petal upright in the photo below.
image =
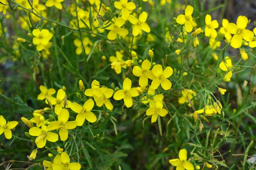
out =
[[53,170],[80,170],[81,164],[76,162],[70,163],[70,157],[67,155],[66,152],[61,153],[61,162],[62,163],[53,163],[52,169]]

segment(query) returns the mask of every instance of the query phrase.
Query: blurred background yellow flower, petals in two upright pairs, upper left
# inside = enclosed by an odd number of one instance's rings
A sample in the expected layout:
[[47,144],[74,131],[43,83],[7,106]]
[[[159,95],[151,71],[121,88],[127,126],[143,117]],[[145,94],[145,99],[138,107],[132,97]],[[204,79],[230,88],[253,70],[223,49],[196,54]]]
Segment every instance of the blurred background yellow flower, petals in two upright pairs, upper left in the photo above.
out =
[[[83,39],[83,44],[84,44],[84,51],[85,54],[88,55],[91,52],[91,47],[93,43],[90,41],[88,37],[84,37]],[[79,39],[74,40],[74,45],[76,46],[76,54],[80,55],[82,53],[82,42]]]

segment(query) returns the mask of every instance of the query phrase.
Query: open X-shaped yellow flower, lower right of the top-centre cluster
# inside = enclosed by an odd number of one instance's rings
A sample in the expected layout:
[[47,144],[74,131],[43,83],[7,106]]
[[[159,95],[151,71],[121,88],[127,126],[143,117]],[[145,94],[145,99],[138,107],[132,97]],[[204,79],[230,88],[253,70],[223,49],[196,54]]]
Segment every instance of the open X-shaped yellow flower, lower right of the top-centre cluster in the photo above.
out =
[[146,12],[142,12],[140,14],[139,20],[135,18],[133,15],[130,15],[128,17],[129,21],[134,25],[132,29],[132,34],[134,36],[139,35],[140,30],[143,30],[145,32],[150,32],[150,27],[148,26],[148,24],[145,23],[147,18],[148,18],[148,13]]

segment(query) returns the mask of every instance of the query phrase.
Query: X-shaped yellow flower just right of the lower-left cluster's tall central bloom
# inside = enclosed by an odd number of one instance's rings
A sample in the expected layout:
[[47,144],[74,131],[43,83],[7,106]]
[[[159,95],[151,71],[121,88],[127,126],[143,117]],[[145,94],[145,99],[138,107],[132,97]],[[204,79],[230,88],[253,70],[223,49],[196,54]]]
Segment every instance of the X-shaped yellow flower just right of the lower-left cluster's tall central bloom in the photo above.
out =
[[73,102],[71,105],[72,111],[78,113],[76,116],[76,122],[78,126],[81,126],[84,124],[84,120],[86,119],[88,122],[94,123],[96,122],[97,118],[91,110],[93,109],[94,102],[93,99],[89,99],[84,103],[84,106],[77,104],[76,102]]

